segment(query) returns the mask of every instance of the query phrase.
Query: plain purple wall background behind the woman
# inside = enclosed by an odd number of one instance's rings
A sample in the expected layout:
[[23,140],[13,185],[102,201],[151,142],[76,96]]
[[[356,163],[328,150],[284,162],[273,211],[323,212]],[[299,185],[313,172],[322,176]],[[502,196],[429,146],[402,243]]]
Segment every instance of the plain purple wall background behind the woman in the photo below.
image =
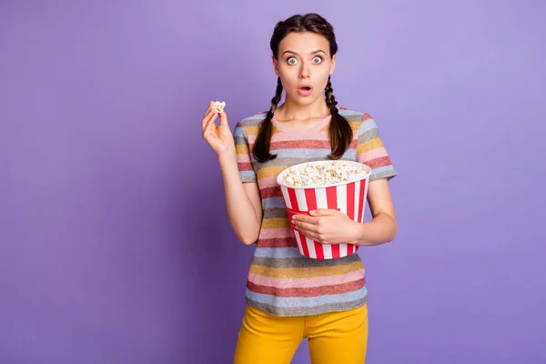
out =
[[369,363],[546,362],[544,2],[47,3],[0,4],[2,363],[230,362],[253,248],[200,119],[267,109],[308,11],[399,172]]

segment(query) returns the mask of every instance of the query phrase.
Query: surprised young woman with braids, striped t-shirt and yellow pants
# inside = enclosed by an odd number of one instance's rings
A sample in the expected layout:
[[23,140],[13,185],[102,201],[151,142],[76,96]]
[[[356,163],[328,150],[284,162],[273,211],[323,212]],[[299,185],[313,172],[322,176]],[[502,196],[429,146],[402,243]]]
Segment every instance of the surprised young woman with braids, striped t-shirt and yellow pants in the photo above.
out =
[[294,224],[325,244],[374,246],[397,233],[388,185],[396,172],[371,116],[337,106],[330,82],[338,51],[332,25],[317,14],[291,16],[275,26],[270,46],[278,84],[269,111],[240,121],[233,134],[225,112],[216,124],[212,103],[202,120],[203,137],[222,171],[229,222],[243,243],[256,243],[234,362],[289,363],[307,338],[313,364],[361,364],[368,342],[362,261],[358,254],[299,254],[276,177],[311,160],[356,160],[371,167],[371,221],[317,209],[296,216]]

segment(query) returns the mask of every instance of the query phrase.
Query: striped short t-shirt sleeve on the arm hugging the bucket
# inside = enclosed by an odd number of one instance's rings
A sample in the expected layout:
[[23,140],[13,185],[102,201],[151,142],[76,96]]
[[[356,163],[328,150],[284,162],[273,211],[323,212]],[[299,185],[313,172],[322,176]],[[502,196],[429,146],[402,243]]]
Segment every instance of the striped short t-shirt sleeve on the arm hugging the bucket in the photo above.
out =
[[369,182],[381,178],[392,179],[397,173],[390,162],[389,153],[379,136],[375,120],[368,114],[362,117],[357,145],[357,161],[371,168]]

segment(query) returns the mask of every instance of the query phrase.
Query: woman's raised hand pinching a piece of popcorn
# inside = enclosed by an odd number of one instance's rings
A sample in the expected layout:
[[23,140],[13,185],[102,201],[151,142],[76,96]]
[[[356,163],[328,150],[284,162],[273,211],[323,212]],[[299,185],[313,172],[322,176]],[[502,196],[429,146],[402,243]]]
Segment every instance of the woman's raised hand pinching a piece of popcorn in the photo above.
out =
[[[212,107],[212,102],[208,105],[205,116],[201,120],[203,129],[203,139],[214,150],[218,156],[229,151],[235,152],[235,143],[229,125],[227,124],[227,114],[222,111],[218,114]],[[220,116],[220,125],[217,126],[216,119]]]

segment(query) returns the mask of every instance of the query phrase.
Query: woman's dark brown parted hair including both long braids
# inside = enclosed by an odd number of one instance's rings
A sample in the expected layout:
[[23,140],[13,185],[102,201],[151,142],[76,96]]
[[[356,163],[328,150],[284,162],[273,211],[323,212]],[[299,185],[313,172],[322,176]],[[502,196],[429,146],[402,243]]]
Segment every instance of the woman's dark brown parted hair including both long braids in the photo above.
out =
[[[338,44],[336,43],[336,35],[334,35],[333,26],[322,16],[310,13],[306,15],[290,16],[287,20],[278,22],[277,25],[275,25],[275,30],[273,31],[269,43],[273,56],[278,58],[278,45],[285,36],[290,33],[303,32],[316,33],[323,35],[328,39],[330,56],[334,56],[338,52]],[[282,83],[280,82],[280,77],[278,77],[277,91],[275,96],[271,99],[271,107],[269,108],[268,114],[259,127],[256,143],[252,151],[253,156],[260,163],[267,162],[268,160],[277,157],[276,155],[269,153],[271,136],[273,135],[273,123],[271,122],[271,119],[280,102],[282,90]],[[349,148],[353,131],[349,121],[345,117],[339,115],[339,109],[337,107],[338,102],[336,101],[336,97],[334,97],[334,89],[332,88],[330,77],[328,78],[328,85],[324,91],[326,105],[329,106],[332,115],[329,125],[329,137],[332,151],[328,157],[330,159],[339,159],[340,157],[343,157]]]

